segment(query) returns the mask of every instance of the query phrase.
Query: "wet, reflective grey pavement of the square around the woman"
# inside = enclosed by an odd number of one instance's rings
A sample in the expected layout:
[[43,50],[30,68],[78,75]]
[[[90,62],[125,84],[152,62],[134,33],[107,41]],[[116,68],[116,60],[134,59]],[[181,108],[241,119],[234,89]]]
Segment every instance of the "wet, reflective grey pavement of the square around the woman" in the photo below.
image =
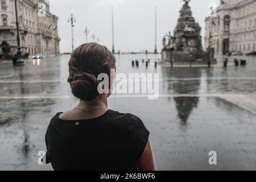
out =
[[[246,67],[154,67],[160,55],[117,56],[118,73],[159,73],[160,97],[114,94],[113,110],[142,118],[158,170],[256,169],[256,57]],[[69,55],[24,67],[0,62],[0,169],[51,170],[38,164],[49,120],[77,104],[67,84]],[[131,60],[151,59],[132,67]],[[233,58],[232,58],[233,59]],[[217,165],[208,163],[217,152]]]

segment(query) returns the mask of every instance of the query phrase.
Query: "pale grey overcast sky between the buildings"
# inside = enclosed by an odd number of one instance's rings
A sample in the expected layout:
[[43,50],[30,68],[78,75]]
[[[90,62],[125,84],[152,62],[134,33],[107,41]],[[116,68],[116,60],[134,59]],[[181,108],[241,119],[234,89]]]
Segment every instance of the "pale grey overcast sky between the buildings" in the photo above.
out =
[[[202,27],[208,15],[210,3],[219,0],[192,0],[189,4],[193,16]],[[89,42],[92,34],[100,38],[100,44],[112,49],[112,6],[114,6],[115,50],[154,51],[155,6],[158,7],[158,51],[162,38],[174,31],[183,2],[181,0],[51,0],[50,11],[59,17],[60,51],[71,52],[71,24],[68,18],[74,14],[75,47],[85,43],[85,27],[88,27]]]

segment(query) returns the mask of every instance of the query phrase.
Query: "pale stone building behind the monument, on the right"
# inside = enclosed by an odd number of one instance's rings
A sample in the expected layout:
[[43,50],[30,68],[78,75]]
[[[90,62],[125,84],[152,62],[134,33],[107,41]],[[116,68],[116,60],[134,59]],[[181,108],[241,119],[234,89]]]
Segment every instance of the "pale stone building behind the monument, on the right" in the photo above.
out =
[[205,48],[216,55],[256,51],[256,0],[221,1],[205,19]]

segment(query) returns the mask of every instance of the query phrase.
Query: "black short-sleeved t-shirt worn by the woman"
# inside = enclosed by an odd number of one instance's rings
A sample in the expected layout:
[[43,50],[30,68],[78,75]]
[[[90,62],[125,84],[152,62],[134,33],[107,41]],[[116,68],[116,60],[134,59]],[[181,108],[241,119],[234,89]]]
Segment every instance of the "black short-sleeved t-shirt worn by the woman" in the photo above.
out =
[[55,170],[136,171],[149,132],[132,114],[108,110],[100,117],[65,121],[57,113],[46,133],[46,162]]

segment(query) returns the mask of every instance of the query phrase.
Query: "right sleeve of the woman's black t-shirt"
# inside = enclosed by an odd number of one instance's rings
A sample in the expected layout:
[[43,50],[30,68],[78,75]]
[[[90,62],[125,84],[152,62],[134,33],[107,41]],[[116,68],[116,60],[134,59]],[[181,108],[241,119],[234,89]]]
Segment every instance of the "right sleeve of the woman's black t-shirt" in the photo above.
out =
[[146,126],[142,120],[136,116],[133,116],[133,137],[134,137],[134,150],[135,156],[139,159],[143,154],[143,151],[147,145],[148,137],[150,132],[147,130]]

